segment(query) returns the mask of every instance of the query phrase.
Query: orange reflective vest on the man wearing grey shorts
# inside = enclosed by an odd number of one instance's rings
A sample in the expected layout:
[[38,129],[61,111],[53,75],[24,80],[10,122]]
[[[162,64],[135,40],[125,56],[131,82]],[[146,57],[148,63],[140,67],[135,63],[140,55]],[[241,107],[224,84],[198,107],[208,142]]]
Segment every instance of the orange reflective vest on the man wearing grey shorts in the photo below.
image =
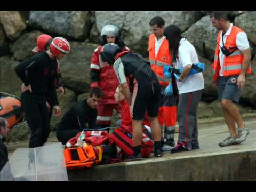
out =
[[[236,36],[239,32],[243,32],[242,29],[239,29],[236,26],[232,26],[230,35],[227,36],[225,47],[229,49],[229,47],[236,47]],[[219,32],[217,36],[217,42],[220,44],[220,38],[221,38],[222,31]],[[215,71],[213,80],[216,81],[219,78],[220,73],[220,61],[219,61],[219,53],[220,53],[220,47],[217,44],[215,49],[215,55],[214,55],[214,62],[212,64],[212,68]],[[235,52],[233,52],[229,56],[224,56],[223,61],[223,68],[222,73],[224,76],[228,77],[231,75],[239,75],[241,73],[242,65],[243,65],[244,55],[242,52],[237,49]],[[251,65],[247,69],[247,74],[251,74],[252,69]]]

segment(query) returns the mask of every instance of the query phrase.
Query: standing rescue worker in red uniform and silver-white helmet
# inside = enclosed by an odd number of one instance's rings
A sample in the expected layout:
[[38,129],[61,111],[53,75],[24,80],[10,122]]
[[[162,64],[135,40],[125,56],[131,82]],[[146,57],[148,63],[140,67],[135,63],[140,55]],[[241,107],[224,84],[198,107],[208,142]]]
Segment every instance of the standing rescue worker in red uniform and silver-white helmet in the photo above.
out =
[[[103,98],[97,109],[96,123],[99,128],[110,127],[111,116],[115,109],[120,117],[120,105],[115,101],[116,87],[119,85],[112,65],[101,60],[100,52],[102,46],[107,43],[115,43],[122,51],[129,50],[119,38],[119,27],[114,24],[105,25],[101,30],[102,42],[95,49],[90,66],[90,86],[100,87],[103,91]],[[107,129],[109,131],[109,129]]]

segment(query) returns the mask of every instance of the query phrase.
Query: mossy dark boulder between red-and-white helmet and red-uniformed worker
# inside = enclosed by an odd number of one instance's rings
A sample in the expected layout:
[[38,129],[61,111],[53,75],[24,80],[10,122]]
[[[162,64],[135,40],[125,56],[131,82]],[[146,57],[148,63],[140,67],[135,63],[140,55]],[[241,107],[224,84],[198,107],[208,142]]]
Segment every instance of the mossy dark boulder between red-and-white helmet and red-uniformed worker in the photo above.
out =
[[60,59],[61,76],[65,85],[76,94],[88,92],[91,58],[96,47],[78,42],[70,44],[70,53]]

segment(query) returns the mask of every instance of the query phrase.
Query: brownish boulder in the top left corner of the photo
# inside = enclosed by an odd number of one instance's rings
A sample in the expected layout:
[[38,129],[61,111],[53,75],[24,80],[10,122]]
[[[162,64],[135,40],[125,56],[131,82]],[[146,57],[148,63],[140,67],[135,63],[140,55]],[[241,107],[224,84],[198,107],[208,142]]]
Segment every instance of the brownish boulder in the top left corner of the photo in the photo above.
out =
[[20,11],[0,11],[0,22],[11,40],[17,39],[27,27],[25,14]]

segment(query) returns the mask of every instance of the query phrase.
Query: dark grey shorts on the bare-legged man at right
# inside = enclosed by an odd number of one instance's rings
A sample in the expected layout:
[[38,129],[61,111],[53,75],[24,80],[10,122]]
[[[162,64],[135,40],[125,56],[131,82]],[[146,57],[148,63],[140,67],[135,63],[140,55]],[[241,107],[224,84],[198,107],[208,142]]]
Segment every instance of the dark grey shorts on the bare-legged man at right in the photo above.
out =
[[238,89],[236,85],[238,75],[230,77],[219,77],[217,81],[218,86],[218,100],[228,99],[236,103],[242,95],[242,90]]

